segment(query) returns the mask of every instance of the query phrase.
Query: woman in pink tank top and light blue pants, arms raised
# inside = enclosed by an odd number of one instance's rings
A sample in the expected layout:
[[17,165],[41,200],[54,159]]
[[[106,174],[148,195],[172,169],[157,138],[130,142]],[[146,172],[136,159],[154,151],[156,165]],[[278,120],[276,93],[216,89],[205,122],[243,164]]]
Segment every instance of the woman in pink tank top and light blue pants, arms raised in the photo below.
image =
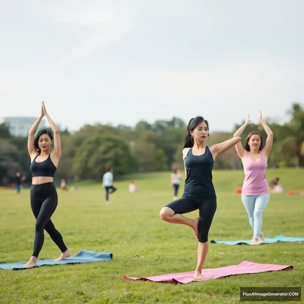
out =
[[[263,126],[267,139],[263,147],[261,134],[250,132],[246,138],[245,146],[239,142],[235,145],[244,168],[244,182],[241,199],[249,217],[249,223],[253,229],[251,245],[264,243],[262,228],[262,213],[270,199],[270,192],[266,180],[267,160],[272,148],[273,134],[269,126],[262,120],[260,111],[259,122]],[[245,128],[250,124],[249,114],[246,122],[233,135],[241,136]]]

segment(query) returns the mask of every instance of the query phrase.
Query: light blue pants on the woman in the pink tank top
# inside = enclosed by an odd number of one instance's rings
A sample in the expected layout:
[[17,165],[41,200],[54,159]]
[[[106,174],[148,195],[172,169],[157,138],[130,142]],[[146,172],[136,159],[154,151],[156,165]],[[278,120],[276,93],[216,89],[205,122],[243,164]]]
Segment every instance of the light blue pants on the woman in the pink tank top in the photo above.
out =
[[262,234],[262,213],[267,206],[270,194],[241,195],[242,203],[247,211],[249,223],[253,229],[253,237],[259,239]]

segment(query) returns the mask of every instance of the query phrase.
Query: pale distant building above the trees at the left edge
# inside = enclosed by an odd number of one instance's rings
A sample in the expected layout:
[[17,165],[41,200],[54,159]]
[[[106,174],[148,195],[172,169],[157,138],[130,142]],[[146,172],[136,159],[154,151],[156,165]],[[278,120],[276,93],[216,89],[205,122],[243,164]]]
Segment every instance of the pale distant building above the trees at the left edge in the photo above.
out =
[[[9,133],[12,136],[26,137],[37,119],[38,117],[3,117],[0,118],[0,123],[5,123],[9,127]],[[37,131],[44,128],[45,121],[41,120]]]

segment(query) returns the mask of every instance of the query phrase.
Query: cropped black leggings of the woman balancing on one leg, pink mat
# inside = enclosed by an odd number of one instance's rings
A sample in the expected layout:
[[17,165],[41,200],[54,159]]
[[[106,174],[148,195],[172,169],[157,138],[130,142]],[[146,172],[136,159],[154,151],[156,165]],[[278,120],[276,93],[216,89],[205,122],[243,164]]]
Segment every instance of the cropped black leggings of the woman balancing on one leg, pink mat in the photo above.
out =
[[209,229],[216,212],[216,198],[193,200],[181,197],[165,207],[171,208],[174,214],[183,214],[199,209],[199,242],[208,242]]

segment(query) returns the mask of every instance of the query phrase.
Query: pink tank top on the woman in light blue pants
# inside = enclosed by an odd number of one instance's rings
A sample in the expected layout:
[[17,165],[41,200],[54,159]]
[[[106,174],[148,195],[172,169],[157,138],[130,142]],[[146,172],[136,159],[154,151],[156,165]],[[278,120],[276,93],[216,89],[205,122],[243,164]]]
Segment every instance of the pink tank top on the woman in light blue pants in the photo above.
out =
[[244,182],[242,194],[244,195],[261,195],[269,193],[269,187],[266,181],[267,161],[264,159],[261,152],[260,161],[252,161],[250,152],[248,153],[244,167]]

